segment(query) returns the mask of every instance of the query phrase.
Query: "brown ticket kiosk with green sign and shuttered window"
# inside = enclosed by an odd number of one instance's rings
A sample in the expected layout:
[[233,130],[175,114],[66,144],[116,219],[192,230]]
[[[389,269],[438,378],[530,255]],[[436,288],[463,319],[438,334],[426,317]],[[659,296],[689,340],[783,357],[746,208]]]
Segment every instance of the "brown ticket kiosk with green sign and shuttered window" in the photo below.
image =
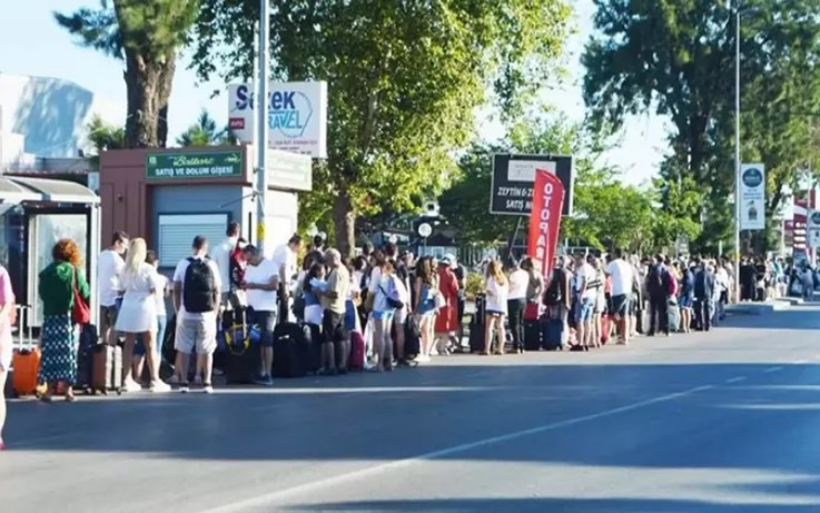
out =
[[250,146],[105,152],[103,244],[116,230],[144,237],[169,272],[190,254],[196,235],[214,246],[231,221],[256,241],[258,200],[265,206],[266,249],[286,243],[297,228],[297,191],[310,189],[310,158],[271,150],[269,188],[260,195],[253,187],[253,156]]

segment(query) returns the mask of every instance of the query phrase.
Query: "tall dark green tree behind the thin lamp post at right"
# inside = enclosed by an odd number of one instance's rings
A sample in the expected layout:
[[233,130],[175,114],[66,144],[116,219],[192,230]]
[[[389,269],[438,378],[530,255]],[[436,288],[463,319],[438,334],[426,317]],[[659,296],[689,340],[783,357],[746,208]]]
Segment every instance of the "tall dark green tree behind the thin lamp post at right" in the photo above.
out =
[[[596,31],[583,57],[591,118],[618,126],[626,114],[654,110],[670,117],[673,154],[661,169],[663,182],[688,176],[691,191],[704,194],[690,219],[703,219],[700,246],[714,249],[729,238],[733,218],[727,201],[734,188],[733,6],[699,0],[595,4]],[[742,2],[743,158],[759,157],[772,170],[770,214],[798,162],[816,158],[807,155],[817,149],[802,137],[813,121],[798,112],[818,105],[818,12],[819,0]]]

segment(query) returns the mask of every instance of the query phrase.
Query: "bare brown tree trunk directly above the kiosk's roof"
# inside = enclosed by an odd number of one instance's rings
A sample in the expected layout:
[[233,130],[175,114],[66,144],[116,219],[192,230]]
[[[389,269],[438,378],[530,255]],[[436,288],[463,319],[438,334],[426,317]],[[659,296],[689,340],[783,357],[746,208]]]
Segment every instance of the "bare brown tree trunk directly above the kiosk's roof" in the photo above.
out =
[[126,147],[155,148],[159,146],[159,89],[162,65],[146,60],[140,53],[126,49]]

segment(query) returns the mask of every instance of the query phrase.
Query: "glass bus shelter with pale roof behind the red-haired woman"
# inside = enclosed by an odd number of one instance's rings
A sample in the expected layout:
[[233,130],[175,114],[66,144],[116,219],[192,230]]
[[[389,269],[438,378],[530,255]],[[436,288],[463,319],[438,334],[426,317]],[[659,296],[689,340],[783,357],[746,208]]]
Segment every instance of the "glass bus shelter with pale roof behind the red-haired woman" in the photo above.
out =
[[63,180],[0,175],[0,264],[6,266],[17,302],[31,306],[31,326],[42,323],[39,274],[51,263],[51,248],[70,238],[85,256],[96,322],[97,283],[91,269],[99,254],[100,201],[87,187]]

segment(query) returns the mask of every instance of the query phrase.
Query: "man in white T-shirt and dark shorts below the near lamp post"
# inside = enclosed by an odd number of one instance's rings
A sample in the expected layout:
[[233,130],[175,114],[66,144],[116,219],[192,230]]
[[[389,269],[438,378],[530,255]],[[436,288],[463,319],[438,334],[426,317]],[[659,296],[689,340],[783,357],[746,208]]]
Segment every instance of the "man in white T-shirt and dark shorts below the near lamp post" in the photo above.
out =
[[265,258],[256,246],[248,245],[243,250],[248,267],[245,269],[243,289],[247,292],[248,306],[254,308],[254,323],[259,326],[261,368],[257,384],[270,386],[274,381],[270,372],[274,366],[274,329],[278,302],[279,270],[273,259]]

